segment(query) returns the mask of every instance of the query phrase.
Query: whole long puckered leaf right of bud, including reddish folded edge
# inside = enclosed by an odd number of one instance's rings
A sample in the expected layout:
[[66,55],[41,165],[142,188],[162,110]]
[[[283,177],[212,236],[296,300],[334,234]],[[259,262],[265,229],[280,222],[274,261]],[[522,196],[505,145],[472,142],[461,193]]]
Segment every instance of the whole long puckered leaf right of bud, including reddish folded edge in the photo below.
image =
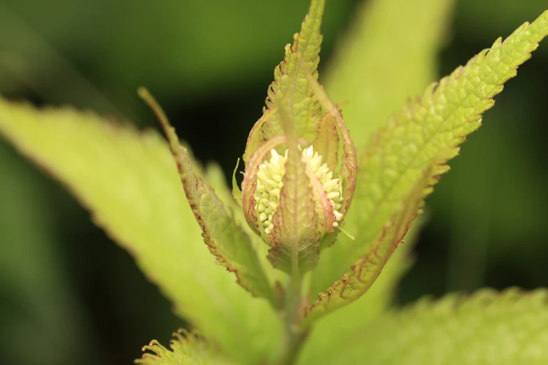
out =
[[[428,87],[372,138],[360,155],[359,182],[347,218],[356,242],[342,238],[321,257],[315,271],[321,275],[314,275],[312,282],[313,294],[321,294],[307,308],[311,316],[355,300],[369,289],[423,197],[432,191],[428,188],[449,170],[447,162],[458,154],[458,145],[481,125],[482,114],[494,105],[493,97],[547,34],[548,11]],[[354,262],[338,279],[340,271]]]

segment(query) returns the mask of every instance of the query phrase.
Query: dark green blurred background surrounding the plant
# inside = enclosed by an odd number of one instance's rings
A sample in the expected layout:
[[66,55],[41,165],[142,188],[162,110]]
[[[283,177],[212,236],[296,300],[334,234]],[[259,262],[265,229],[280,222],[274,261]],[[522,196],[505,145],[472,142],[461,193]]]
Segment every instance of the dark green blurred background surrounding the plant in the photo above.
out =
[[[358,2],[328,1],[324,60]],[[232,173],[307,6],[0,0],[0,92],[156,127],[135,92],[146,85],[197,157]],[[456,3],[440,75],[545,8],[545,0]],[[400,303],[482,286],[548,286],[547,83],[544,44],[496,98],[428,199],[428,224]],[[88,213],[0,141],[1,362],[129,364],[142,345],[152,338],[167,343],[183,325]]]

